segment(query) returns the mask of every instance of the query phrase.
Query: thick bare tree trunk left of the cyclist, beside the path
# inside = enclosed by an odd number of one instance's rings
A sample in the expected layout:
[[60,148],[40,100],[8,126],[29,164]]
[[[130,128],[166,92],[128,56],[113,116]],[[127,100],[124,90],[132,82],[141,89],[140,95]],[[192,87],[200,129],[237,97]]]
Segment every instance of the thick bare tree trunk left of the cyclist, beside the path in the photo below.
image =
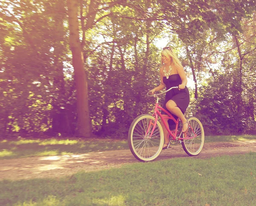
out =
[[70,29],[70,49],[72,51],[72,61],[76,81],[77,95],[77,114],[78,135],[90,137],[91,122],[88,104],[88,86],[87,76],[84,71],[84,58],[79,40],[79,23],[78,23],[78,1],[67,0],[68,21]]

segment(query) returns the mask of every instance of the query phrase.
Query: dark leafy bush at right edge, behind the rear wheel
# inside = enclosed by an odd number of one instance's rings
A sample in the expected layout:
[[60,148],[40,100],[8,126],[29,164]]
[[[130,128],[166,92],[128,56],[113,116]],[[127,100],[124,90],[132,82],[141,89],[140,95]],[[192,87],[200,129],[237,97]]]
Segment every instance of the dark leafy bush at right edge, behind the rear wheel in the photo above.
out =
[[200,94],[203,95],[194,103],[198,106],[193,112],[201,119],[208,134],[256,133],[253,126],[254,113],[248,113],[253,110],[252,102],[244,97],[245,107],[240,113],[238,112],[236,90],[238,77],[232,74],[218,74],[207,86],[200,88]]

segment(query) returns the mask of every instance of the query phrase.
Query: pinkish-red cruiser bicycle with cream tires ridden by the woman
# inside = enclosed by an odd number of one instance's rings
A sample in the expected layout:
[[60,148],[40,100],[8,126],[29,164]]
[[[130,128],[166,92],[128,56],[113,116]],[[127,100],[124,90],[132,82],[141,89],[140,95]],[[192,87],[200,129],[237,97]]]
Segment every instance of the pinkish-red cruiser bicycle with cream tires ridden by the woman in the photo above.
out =
[[[204,128],[199,119],[195,116],[190,116],[187,120],[189,122],[189,129],[184,134],[181,132],[178,133],[178,126],[180,119],[175,119],[169,111],[166,111],[158,105],[158,96],[178,87],[171,87],[169,90],[166,90],[162,93],[150,95],[149,92],[147,96],[154,96],[157,98],[157,102],[154,108],[154,115],[142,114],[134,119],[131,123],[128,132],[128,144],[131,150],[131,153],[139,161],[152,161],[160,155],[163,143],[163,128],[158,121],[158,116],[161,121],[163,121],[166,130],[168,131],[170,137],[170,144],[179,144],[181,143],[183,150],[189,156],[198,155],[204,146]],[[163,116],[159,110],[164,111],[168,116]],[[169,125],[166,124],[164,119],[172,119],[175,124],[175,130],[169,130]],[[182,135],[182,137],[181,137]],[[167,147],[167,148],[168,148]]]

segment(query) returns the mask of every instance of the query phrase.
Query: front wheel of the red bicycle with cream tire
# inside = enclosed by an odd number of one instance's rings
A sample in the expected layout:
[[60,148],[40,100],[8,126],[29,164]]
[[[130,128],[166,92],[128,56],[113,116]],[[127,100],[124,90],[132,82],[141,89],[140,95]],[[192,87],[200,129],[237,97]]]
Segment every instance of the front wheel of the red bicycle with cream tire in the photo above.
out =
[[152,161],[163,148],[163,129],[159,121],[153,131],[155,118],[143,114],[131,123],[128,143],[131,153],[140,161]]

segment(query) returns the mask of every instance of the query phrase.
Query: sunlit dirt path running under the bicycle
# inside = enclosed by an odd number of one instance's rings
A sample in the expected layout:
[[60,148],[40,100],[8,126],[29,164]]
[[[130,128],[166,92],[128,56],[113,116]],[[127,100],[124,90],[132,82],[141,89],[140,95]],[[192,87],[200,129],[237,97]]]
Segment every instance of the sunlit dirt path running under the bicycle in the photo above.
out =
[[[189,157],[179,144],[172,146],[168,150],[163,150],[155,161],[177,157],[209,158],[221,155],[244,154],[250,151],[256,152],[256,141],[206,143],[198,156]],[[120,167],[123,164],[131,163],[140,164],[140,161],[134,158],[130,150],[0,160],[0,180],[58,178],[72,175],[79,170],[89,172]]]

